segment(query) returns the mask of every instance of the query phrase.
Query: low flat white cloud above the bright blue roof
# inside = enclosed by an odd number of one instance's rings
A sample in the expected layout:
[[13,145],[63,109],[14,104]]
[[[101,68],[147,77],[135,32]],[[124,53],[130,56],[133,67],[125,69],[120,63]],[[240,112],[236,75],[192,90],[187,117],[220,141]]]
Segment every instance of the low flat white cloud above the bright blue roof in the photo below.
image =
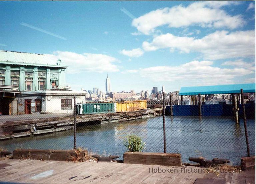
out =
[[179,66],[156,66],[139,71],[142,77],[152,81],[178,82],[188,85],[215,85],[233,83],[239,76],[255,72],[246,68],[219,68],[213,67],[213,61],[191,61]]

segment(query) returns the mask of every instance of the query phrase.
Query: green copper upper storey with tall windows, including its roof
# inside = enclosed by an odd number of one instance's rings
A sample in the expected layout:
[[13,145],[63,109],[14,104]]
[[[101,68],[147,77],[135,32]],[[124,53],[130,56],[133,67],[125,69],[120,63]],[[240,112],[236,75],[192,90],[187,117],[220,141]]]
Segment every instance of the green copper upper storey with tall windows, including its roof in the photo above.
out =
[[17,86],[19,91],[65,88],[65,69],[51,55],[0,50],[0,85]]

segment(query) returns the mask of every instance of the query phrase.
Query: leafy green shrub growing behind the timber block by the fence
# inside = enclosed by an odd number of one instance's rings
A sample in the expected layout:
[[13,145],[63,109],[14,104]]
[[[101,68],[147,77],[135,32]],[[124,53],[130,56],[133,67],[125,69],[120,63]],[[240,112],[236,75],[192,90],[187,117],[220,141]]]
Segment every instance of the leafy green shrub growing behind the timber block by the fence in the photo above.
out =
[[145,142],[139,136],[129,135],[125,137],[124,146],[131,152],[142,152]]

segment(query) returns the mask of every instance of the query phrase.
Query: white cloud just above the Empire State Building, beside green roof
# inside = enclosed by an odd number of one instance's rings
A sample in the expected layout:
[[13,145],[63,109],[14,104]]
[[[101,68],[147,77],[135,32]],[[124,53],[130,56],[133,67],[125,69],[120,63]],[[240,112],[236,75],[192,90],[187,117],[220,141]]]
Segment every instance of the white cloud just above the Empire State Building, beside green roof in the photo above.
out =
[[68,66],[67,73],[81,73],[83,71],[92,72],[116,72],[119,71],[117,66],[113,64],[117,59],[104,54],[55,51],[53,54],[46,54],[53,60],[61,59]]

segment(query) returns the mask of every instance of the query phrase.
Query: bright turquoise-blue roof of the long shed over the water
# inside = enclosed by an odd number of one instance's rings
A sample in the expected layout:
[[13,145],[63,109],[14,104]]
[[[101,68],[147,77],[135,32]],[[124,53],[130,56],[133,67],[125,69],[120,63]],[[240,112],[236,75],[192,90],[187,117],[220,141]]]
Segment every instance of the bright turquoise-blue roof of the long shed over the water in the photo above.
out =
[[209,94],[231,94],[240,93],[243,89],[244,93],[255,93],[255,84],[231,84],[217,86],[195,86],[182,87],[179,95],[209,95]]

